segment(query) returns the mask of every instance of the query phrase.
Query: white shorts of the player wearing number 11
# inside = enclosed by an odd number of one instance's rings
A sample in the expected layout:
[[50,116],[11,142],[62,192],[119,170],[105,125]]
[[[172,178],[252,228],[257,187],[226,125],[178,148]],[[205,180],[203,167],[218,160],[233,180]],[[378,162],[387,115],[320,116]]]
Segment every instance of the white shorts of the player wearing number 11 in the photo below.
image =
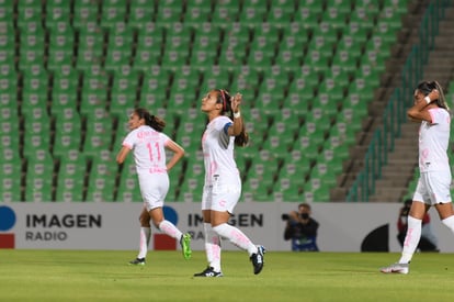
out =
[[169,176],[167,174],[141,172],[138,175],[140,194],[147,211],[162,208],[169,191]]

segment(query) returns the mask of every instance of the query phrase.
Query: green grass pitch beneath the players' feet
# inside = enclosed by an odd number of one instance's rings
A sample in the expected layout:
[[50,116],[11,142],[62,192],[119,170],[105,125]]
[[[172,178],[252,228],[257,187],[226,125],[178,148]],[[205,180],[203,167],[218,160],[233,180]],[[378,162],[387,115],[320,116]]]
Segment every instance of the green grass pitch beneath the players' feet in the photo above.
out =
[[386,253],[268,253],[254,276],[246,253],[224,251],[224,278],[193,278],[203,251],[0,250],[0,301],[453,301],[454,255],[417,254],[409,275],[384,275]]

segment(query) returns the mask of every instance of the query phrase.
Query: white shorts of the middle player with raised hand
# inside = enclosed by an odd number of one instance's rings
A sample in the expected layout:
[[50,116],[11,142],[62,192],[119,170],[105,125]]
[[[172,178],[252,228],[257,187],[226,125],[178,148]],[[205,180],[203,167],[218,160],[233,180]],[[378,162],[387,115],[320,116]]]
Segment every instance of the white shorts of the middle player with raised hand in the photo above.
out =
[[202,194],[202,210],[229,212],[234,209],[241,195],[241,180],[239,177],[228,181],[215,182],[213,186],[204,186]]

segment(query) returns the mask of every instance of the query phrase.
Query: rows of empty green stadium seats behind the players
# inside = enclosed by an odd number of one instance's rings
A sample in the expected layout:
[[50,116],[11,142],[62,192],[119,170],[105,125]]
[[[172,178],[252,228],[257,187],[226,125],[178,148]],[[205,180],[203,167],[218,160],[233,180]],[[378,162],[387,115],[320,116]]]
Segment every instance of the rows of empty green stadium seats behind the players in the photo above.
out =
[[186,150],[169,200],[197,202],[200,99],[226,88],[245,98],[245,198],[328,201],[406,1],[30,0],[0,12],[14,15],[0,20],[1,200],[140,201],[132,161],[114,156],[145,107]]

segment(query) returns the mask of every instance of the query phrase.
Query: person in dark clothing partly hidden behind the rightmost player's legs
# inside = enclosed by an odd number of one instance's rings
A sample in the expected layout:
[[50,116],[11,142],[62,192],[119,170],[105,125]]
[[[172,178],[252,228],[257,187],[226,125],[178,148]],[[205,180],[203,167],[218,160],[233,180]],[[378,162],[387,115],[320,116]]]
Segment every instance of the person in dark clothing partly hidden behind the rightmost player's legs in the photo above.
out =
[[[397,239],[399,241],[400,246],[404,246],[405,236],[407,234],[408,213],[410,212],[411,202],[411,199],[406,200],[404,206],[399,211],[399,217],[397,220]],[[436,236],[432,232],[429,213],[425,213],[422,219],[421,239],[419,241],[418,249],[420,251],[440,251],[436,247]]]

